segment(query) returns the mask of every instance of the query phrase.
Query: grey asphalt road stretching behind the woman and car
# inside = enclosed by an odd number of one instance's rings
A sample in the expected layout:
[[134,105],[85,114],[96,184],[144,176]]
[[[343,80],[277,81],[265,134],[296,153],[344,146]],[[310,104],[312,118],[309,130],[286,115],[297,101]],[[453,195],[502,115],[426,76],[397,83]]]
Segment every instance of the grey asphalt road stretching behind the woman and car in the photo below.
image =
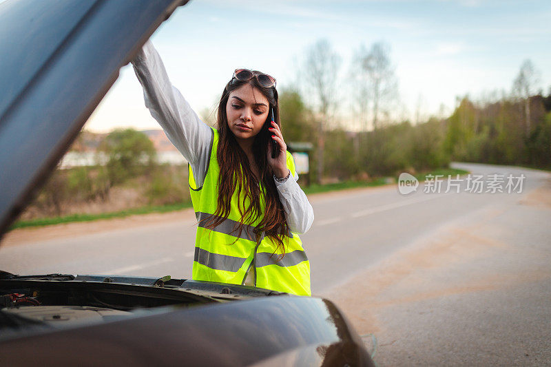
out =
[[[313,294],[340,306],[369,348],[375,335],[380,366],[551,364],[551,175],[455,167],[483,174],[484,191],[492,174],[524,175],[523,187],[473,193],[461,178],[459,193],[443,182],[439,193],[311,196],[315,222],[301,238]],[[14,231],[0,269],[186,278],[194,224],[189,210]]]

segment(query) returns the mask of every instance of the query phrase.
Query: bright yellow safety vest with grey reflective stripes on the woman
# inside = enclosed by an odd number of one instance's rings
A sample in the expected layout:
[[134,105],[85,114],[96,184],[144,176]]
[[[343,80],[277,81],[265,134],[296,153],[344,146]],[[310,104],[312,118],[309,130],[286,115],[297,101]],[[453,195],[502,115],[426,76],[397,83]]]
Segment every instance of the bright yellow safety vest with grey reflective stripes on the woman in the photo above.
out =
[[[212,128],[211,128],[212,129]],[[189,191],[191,202],[199,222],[195,242],[193,279],[229,284],[245,284],[247,271],[254,271],[255,286],[273,291],[311,295],[310,262],[302,248],[297,233],[284,235],[285,255],[281,253],[271,238],[262,235],[257,242],[253,232],[262,218],[243,226],[239,233],[238,195],[234,191],[230,202],[229,216],[214,229],[207,229],[207,220],[214,214],[218,205],[218,175],[220,167],[216,158],[218,131],[211,130],[210,161],[207,165],[205,182],[197,187],[191,165],[189,165]],[[295,172],[293,156],[287,152],[287,168]],[[264,210],[264,197],[261,200]],[[243,204],[242,204],[243,205]],[[250,205],[250,202],[245,202]],[[275,252],[275,253],[274,253]]]

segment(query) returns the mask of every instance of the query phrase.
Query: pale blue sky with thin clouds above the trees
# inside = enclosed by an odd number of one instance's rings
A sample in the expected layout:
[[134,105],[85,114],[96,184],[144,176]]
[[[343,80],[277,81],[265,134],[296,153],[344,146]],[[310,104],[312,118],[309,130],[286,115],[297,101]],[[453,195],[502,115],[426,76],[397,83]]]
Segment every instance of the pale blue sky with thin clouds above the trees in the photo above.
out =
[[[390,48],[398,81],[395,118],[450,114],[457,96],[508,93],[526,59],[541,73],[543,92],[551,87],[548,0],[196,0],[152,36],[171,83],[198,114],[211,116],[236,68],[274,76],[278,90],[300,86],[306,50],[320,39],[340,54],[337,101],[351,129],[348,80],[360,45]],[[85,125],[93,132],[120,127],[159,128],[130,65]]]

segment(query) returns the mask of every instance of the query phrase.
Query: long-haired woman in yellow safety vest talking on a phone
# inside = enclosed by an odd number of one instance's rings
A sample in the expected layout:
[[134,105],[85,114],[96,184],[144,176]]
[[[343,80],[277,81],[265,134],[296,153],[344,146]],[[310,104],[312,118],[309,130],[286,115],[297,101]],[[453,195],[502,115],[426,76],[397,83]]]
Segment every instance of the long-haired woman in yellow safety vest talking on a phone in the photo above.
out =
[[311,295],[299,234],[313,210],[283,140],[275,78],[236,70],[213,129],[171,85],[152,43],[132,64],[146,107],[189,162],[198,220],[193,279]]

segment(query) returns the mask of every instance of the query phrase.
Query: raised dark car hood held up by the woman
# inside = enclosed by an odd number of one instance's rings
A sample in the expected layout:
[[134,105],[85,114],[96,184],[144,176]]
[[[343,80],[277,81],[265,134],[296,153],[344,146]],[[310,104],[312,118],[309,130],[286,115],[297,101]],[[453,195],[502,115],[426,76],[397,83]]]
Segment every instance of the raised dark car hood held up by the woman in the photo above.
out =
[[55,169],[118,70],[187,1],[0,4],[0,236]]

